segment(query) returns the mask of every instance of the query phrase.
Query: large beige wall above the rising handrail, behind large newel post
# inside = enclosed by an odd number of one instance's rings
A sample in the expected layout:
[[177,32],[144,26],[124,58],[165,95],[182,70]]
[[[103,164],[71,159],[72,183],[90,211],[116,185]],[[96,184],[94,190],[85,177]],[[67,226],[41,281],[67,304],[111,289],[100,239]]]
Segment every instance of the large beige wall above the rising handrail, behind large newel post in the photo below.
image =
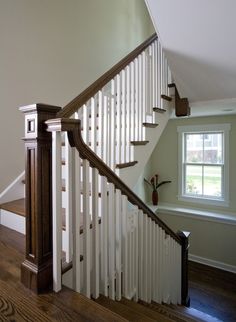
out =
[[0,192],[23,170],[23,115],[63,106],[154,32],[143,0],[0,0]]

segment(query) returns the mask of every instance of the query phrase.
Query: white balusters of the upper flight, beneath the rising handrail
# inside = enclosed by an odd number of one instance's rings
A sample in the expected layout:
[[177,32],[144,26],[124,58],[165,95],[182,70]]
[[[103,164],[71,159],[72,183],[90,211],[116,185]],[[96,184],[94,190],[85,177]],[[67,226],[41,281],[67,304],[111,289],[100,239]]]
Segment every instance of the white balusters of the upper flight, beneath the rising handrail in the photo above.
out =
[[154,41],[79,110],[86,144],[113,170],[133,161],[131,141],[144,141],[144,122],[164,108],[171,73],[161,44]]

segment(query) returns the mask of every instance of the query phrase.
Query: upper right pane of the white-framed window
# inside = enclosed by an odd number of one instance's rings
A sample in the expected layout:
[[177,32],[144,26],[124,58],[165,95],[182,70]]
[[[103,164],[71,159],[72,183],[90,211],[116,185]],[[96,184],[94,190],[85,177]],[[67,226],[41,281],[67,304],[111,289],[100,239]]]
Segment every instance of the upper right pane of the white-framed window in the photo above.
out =
[[204,134],[204,162],[221,164],[223,162],[222,154],[223,133]]

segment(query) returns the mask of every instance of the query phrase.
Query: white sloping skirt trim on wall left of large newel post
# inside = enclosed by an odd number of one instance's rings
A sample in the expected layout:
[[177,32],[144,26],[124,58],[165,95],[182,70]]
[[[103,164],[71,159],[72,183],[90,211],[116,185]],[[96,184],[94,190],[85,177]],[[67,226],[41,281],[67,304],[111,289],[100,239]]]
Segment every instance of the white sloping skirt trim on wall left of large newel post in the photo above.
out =
[[24,198],[25,187],[22,183],[24,177],[25,171],[23,171],[5,190],[3,190],[2,193],[0,193],[0,203]]

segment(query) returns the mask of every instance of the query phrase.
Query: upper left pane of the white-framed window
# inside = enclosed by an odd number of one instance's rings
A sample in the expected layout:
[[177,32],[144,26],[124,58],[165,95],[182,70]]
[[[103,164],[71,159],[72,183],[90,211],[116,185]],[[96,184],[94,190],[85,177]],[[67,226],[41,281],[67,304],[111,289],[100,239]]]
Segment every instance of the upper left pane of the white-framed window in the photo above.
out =
[[203,163],[203,135],[185,134],[186,162]]

